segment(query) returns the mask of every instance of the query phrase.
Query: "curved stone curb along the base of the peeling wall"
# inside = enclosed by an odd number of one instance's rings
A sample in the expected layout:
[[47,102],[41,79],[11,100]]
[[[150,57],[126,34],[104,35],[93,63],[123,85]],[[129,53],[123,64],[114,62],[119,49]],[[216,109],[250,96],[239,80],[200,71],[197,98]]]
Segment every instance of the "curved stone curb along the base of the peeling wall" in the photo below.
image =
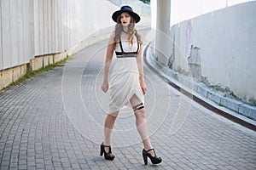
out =
[[148,65],[148,67],[159,77],[168,82],[169,85],[207,109],[214,111],[233,122],[241,124],[244,127],[256,131],[255,106],[247,105],[241,101],[224,97],[214,89],[208,88],[203,83],[193,82],[192,78],[189,81],[188,77],[177,75],[176,72],[157,61],[149,47],[150,43],[144,49],[143,58],[145,64]]

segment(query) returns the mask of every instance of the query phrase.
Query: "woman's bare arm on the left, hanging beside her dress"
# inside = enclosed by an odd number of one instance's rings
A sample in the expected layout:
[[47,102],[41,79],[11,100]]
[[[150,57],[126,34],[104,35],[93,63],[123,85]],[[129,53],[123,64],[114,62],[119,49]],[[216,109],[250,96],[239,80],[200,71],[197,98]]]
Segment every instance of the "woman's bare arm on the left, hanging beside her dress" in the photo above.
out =
[[113,37],[114,34],[109,37],[108,40],[108,47],[107,47],[107,54],[106,54],[106,60],[105,60],[105,65],[104,65],[104,77],[103,77],[103,82],[102,82],[102,90],[103,92],[108,91],[108,74],[109,74],[109,67],[113,58]]

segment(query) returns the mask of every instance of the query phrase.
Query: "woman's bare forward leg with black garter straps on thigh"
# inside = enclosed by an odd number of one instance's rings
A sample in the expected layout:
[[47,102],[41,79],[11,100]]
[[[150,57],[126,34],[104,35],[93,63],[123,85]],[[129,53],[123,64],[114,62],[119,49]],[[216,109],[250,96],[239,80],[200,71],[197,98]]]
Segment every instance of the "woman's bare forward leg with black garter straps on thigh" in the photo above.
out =
[[[133,95],[131,97],[131,105],[132,107],[139,105],[141,102],[139,99],[137,99],[136,95]],[[143,140],[143,145],[145,150],[150,150],[152,149],[152,144],[149,139],[149,134],[148,134],[148,126],[146,122],[146,117],[145,117],[145,109],[140,109],[134,112],[136,116],[136,126],[137,126],[137,131],[141,136],[141,139]],[[151,154],[151,156],[154,156],[154,151],[151,150],[148,153]]]

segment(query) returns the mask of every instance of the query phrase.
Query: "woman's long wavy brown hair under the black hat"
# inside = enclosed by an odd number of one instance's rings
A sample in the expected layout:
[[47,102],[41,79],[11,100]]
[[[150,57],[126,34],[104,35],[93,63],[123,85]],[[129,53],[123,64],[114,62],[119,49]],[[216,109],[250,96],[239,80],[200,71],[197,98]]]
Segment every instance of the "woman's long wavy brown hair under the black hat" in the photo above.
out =
[[[137,41],[139,42],[139,44],[141,45],[143,42],[142,42],[142,38],[140,36],[140,34],[137,33],[137,30],[135,29],[135,20],[134,18],[132,17],[131,14],[129,14],[131,16],[131,23],[129,24],[128,26],[128,42],[131,43],[131,45],[133,44],[133,35],[136,33],[137,34]],[[122,33],[123,31],[123,26],[121,24],[121,15],[118,16],[117,18],[117,23],[115,25],[115,29],[114,29],[114,43],[113,43],[113,48],[116,47],[116,44],[119,43],[119,37],[120,37],[120,34]]]

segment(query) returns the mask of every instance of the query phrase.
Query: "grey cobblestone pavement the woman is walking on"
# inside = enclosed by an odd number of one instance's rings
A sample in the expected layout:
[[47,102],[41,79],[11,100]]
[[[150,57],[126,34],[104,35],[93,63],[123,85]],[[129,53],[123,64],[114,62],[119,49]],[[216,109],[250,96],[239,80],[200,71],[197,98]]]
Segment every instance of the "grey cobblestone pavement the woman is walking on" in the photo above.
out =
[[0,94],[0,169],[256,169],[255,132],[178,93],[147,65],[148,128],[163,162],[143,165],[127,108],[114,126],[116,158],[99,156],[108,108],[100,89],[106,43]]

